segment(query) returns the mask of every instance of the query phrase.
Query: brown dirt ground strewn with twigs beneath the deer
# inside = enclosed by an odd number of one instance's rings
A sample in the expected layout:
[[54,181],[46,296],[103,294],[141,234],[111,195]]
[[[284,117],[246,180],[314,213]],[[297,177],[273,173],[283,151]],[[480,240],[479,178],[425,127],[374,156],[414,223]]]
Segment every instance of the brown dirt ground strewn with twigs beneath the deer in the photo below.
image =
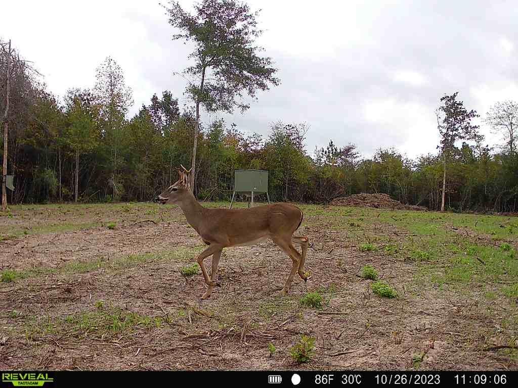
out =
[[[332,225],[326,208],[308,207],[304,219],[307,283],[296,277],[281,297],[291,260],[279,248],[229,248],[221,288],[202,301],[203,276],[179,270],[203,244],[177,208],[69,206],[13,208],[0,218],[8,236],[0,241],[0,270],[15,274],[0,282],[0,369],[518,367],[505,345],[488,349],[516,335],[502,327],[516,317],[515,301],[420,282],[418,264],[362,251],[358,232]],[[45,229],[60,224],[68,226]],[[408,238],[376,216],[362,233]],[[371,292],[359,275],[367,264],[398,297]],[[323,295],[324,306],[301,306],[308,292]],[[298,364],[290,349],[301,335],[315,338],[314,355]]]

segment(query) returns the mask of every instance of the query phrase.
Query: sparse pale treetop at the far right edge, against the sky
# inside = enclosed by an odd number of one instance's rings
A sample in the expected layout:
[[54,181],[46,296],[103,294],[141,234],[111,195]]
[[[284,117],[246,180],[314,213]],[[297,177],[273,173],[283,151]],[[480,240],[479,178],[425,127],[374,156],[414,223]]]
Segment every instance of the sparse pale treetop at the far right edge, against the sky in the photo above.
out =
[[487,112],[485,122],[491,126],[494,133],[502,135],[509,155],[514,155],[518,140],[518,102],[511,100],[497,102]]

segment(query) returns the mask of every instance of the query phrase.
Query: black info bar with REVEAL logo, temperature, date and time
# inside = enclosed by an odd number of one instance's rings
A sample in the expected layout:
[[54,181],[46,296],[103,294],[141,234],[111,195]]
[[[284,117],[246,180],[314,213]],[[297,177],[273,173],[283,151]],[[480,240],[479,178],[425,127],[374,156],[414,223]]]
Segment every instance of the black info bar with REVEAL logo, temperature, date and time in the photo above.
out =
[[509,371],[3,371],[0,387],[42,386],[516,386]]

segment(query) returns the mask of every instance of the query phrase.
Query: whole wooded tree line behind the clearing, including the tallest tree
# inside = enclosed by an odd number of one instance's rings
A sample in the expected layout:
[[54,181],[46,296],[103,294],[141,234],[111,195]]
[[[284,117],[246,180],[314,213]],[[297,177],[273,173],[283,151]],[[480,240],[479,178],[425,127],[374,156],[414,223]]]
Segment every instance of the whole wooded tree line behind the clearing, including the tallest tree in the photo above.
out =
[[[169,23],[174,39],[194,43],[195,79],[186,88],[192,105],[181,108],[171,91],[150,96],[133,117],[132,90],[121,67],[108,57],[96,83],[55,96],[16,50],[0,42],[0,112],[7,170],[15,175],[9,203],[147,201],[176,180],[176,167],[195,167],[193,190],[200,200],[229,200],[236,169],[269,172],[275,201],[327,203],[354,193],[386,193],[430,210],[518,211],[518,103],[500,101],[483,121],[500,133],[488,145],[458,93],[438,101],[436,153],[407,158],[393,148],[372,157],[355,144],[337,144],[310,155],[306,123],[272,121],[267,136],[234,124],[202,123],[207,112],[244,111],[243,93],[278,85],[271,58],[254,46],[260,35],[249,7],[234,0],[204,0],[189,14],[175,2]],[[10,91],[7,99],[7,85]],[[9,102],[8,102],[8,101]],[[8,109],[7,109],[8,108]],[[423,129],[427,130],[427,129]],[[4,133],[4,131],[2,131]],[[194,145],[194,147],[193,147]],[[196,163],[196,165],[195,165]]]

